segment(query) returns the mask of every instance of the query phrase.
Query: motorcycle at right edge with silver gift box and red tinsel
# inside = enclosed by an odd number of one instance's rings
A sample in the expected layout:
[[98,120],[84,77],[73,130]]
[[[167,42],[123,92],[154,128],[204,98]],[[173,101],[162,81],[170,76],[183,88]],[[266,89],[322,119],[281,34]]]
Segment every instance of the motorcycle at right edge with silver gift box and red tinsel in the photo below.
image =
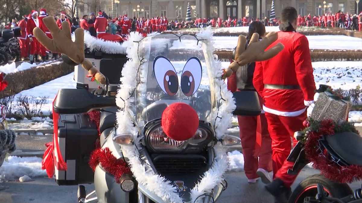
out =
[[[295,132],[298,143],[287,159],[294,163],[289,174],[298,174],[311,162],[313,168],[319,169],[321,174],[309,176],[300,182],[292,192],[289,203],[362,202],[362,186],[352,191],[347,184],[362,180],[362,137],[346,121],[349,102],[342,96],[338,98],[338,94],[328,88],[321,85],[317,90],[321,93],[316,105],[320,105],[322,111],[315,114],[316,119],[311,119],[312,112],[309,120],[303,123],[306,129]],[[329,111],[331,108],[340,109]],[[334,119],[324,117],[323,114],[334,116]],[[338,118],[338,115],[341,117]]]

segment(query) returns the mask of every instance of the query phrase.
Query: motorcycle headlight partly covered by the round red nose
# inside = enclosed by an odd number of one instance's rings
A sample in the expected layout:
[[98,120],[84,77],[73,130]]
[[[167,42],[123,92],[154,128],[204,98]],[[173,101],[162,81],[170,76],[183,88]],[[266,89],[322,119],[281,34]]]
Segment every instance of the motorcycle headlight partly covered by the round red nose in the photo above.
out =
[[173,140],[164,133],[161,121],[151,121],[146,125],[145,144],[153,152],[195,152],[201,151],[214,137],[209,125],[203,121],[193,137],[186,141]]

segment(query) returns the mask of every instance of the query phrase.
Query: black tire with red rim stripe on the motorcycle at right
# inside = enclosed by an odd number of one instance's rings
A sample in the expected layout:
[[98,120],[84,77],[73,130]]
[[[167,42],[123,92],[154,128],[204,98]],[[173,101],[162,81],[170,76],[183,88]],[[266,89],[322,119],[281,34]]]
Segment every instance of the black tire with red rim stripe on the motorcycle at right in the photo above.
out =
[[353,195],[352,189],[346,183],[331,181],[321,174],[309,176],[296,186],[290,195],[289,203],[304,203],[306,196],[315,197],[317,194],[317,184],[321,184],[328,191],[329,196],[343,198]]

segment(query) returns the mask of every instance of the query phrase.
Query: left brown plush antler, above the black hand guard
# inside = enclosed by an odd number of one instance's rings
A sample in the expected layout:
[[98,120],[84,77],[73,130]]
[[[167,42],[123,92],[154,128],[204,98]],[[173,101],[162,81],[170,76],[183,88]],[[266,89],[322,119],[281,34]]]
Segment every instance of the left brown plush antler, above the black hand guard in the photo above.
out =
[[53,39],[49,39],[46,34],[39,28],[35,27],[33,30],[35,38],[48,50],[54,53],[63,53],[67,55],[72,61],[81,64],[82,67],[93,75],[94,78],[101,84],[106,83],[106,78],[100,73],[92,63],[84,59],[84,30],[78,28],[75,30],[75,42],[72,41],[70,26],[68,21],[63,21],[62,30],[52,16],[43,18],[43,22],[49,29]]

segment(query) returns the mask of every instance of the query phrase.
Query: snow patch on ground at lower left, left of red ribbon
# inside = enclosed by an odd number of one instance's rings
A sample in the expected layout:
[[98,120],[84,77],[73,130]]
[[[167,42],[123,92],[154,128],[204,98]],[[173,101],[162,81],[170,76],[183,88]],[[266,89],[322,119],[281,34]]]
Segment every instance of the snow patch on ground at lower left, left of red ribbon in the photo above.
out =
[[30,178],[46,176],[46,171],[41,169],[41,165],[42,159],[39,157],[9,156],[8,161],[4,161],[0,167],[0,180],[18,180],[25,175]]

